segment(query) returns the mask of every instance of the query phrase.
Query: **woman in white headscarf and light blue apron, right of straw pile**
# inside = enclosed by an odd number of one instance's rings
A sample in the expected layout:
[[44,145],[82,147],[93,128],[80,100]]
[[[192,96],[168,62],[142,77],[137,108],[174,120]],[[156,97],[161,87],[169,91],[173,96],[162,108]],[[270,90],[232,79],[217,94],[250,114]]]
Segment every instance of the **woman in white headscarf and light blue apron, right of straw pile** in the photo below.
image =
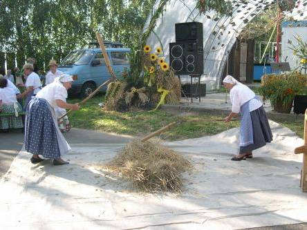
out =
[[272,141],[272,131],[266,111],[254,92],[232,76],[227,75],[223,79],[223,85],[230,90],[232,102],[232,111],[225,118],[225,122],[230,122],[232,117],[241,113],[240,152],[239,155],[232,157],[232,160],[252,158],[253,150]]

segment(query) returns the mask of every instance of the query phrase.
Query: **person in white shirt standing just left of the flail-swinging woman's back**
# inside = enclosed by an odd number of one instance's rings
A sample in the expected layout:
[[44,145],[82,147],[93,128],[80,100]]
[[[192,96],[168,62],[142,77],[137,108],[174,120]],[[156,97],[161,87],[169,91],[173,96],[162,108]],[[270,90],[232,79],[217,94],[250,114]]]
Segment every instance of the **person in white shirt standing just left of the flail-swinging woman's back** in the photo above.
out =
[[32,96],[37,95],[39,90],[41,90],[41,79],[37,73],[33,72],[33,65],[30,63],[24,64],[24,74],[27,76],[26,78],[26,91],[24,91],[24,95],[26,95],[26,102],[24,104],[24,110],[26,111],[27,106],[32,98]]

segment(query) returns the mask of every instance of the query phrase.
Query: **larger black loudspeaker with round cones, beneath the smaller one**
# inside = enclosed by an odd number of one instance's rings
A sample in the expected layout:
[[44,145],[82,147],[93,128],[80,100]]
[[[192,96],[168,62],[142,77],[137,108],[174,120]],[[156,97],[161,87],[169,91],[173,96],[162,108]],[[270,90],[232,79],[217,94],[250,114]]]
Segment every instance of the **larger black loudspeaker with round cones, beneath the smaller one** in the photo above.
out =
[[203,74],[203,43],[197,40],[170,43],[169,65],[176,75]]

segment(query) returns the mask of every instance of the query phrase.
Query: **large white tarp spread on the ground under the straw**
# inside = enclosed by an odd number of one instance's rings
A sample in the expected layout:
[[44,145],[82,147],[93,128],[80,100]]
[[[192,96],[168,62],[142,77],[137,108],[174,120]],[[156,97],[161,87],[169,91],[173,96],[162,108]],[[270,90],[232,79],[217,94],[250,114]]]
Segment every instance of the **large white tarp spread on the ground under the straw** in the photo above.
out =
[[307,222],[299,188],[303,140],[270,122],[274,142],[232,162],[238,128],[169,142],[189,157],[181,195],[140,195],[102,170],[122,144],[75,144],[66,166],[21,152],[0,183],[0,229],[241,229]]

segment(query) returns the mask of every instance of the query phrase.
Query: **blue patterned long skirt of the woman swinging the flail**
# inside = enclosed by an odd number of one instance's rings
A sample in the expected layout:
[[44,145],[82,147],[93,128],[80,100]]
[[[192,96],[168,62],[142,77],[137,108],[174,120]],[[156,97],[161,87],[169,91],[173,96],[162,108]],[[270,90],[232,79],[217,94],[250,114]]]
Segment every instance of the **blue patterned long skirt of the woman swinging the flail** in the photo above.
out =
[[53,116],[45,99],[33,97],[26,111],[25,149],[46,158],[60,157]]

